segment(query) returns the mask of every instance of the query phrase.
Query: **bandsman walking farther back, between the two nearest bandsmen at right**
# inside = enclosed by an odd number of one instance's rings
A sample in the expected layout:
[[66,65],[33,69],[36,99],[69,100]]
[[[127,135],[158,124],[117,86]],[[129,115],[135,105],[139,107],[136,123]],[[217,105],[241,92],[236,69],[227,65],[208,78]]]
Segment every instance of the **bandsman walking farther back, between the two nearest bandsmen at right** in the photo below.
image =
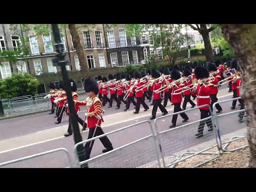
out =
[[[188,79],[188,76],[191,75],[191,71],[188,69],[188,68],[185,68],[183,70],[183,76],[185,76],[185,81],[183,82],[184,83],[184,86],[190,86],[193,87],[193,84],[192,82]],[[186,90],[184,92],[184,101],[183,101],[183,105],[182,105],[182,108],[183,110],[186,110],[186,106],[187,106],[187,103],[189,102],[192,107],[191,108],[194,108],[196,106],[196,104],[190,99],[191,98],[191,89],[190,90]]]

